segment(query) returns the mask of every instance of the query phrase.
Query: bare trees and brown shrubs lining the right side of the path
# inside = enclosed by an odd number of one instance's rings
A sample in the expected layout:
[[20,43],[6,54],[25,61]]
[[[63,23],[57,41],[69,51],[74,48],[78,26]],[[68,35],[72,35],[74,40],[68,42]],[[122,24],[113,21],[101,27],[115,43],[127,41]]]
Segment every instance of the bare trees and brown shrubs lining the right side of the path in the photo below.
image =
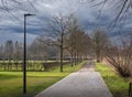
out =
[[132,33],[127,36],[119,34],[117,41],[111,40],[106,31],[97,29],[91,35],[92,47],[97,62],[103,60],[122,77],[132,76]]

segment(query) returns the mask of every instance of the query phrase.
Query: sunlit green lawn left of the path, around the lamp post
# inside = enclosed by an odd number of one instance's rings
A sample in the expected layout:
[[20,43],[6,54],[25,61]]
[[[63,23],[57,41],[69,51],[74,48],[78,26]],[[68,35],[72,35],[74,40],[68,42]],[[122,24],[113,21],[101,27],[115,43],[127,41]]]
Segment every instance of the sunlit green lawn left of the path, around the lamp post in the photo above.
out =
[[[72,72],[80,69],[85,63],[75,67],[65,65],[63,73],[59,73],[59,67],[50,72],[28,72],[29,97],[35,96]],[[0,72],[0,97],[22,97],[22,72]]]

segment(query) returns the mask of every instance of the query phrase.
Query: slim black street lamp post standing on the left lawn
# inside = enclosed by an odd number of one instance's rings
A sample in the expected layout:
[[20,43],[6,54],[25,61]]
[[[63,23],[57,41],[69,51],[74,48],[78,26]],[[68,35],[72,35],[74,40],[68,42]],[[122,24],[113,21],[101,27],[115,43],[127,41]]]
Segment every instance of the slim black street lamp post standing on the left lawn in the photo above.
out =
[[35,14],[24,14],[24,50],[23,50],[23,97],[26,97],[26,17]]

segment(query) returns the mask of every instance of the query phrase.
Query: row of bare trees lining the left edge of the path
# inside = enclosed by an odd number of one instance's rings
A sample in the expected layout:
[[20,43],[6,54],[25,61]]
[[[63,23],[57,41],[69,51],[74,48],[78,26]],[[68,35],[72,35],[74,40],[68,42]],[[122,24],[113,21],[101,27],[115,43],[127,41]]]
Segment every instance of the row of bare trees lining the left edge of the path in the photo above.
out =
[[[73,15],[54,17],[47,24],[46,33],[36,40],[40,46],[55,46],[59,52],[61,72],[63,72],[63,61],[66,56],[72,62],[72,66],[82,58],[87,58],[90,46],[90,37],[85,33],[78,20]],[[43,50],[43,48],[42,48]]]

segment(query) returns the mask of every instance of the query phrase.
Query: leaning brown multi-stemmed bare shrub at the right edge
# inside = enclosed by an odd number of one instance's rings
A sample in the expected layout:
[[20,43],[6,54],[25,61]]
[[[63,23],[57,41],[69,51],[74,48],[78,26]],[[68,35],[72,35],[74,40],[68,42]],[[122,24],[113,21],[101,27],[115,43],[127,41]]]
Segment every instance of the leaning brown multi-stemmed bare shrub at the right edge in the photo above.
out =
[[113,45],[106,52],[108,62],[122,77],[131,77],[132,72],[132,34],[121,37],[120,45]]

